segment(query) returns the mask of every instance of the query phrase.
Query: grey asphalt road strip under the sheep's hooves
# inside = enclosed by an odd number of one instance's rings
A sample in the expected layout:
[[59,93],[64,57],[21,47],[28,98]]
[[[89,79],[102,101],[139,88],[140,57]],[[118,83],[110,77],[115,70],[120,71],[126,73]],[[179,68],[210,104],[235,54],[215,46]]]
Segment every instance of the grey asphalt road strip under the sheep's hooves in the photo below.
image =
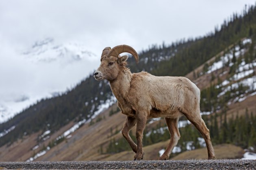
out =
[[256,160],[0,162],[0,169],[252,169]]

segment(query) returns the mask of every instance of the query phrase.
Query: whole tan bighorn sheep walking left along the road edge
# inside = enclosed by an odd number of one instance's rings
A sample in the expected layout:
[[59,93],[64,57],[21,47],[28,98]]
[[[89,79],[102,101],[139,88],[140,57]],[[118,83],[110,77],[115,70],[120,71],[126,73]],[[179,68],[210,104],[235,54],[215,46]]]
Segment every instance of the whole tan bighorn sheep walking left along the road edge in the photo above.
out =
[[[200,115],[200,90],[197,86],[185,77],[156,77],[148,72],[131,73],[126,62],[128,57],[119,55],[124,52],[132,54],[136,62],[139,62],[137,52],[128,45],[119,45],[113,49],[106,47],[94,77],[98,81],[109,81],[121,113],[127,116],[121,132],[136,153],[134,160],[143,159],[143,130],[147,119],[156,117],[165,117],[171,134],[171,140],[158,160],[168,159],[180,139],[178,119],[182,115],[200,131],[206,142],[208,159],[214,159],[210,133]],[[137,145],[128,134],[136,123]]]

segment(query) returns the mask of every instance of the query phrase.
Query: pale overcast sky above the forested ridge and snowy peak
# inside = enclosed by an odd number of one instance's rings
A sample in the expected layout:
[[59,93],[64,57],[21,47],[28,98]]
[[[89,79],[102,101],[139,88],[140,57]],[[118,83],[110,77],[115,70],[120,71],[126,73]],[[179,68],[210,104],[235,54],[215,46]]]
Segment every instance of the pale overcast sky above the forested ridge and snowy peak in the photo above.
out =
[[[126,44],[139,52],[163,41],[171,44],[204,36],[232,13],[241,13],[245,4],[255,0],[0,0],[0,98],[13,91],[16,96],[29,89],[40,91],[47,82],[56,82],[56,75],[63,77],[57,82],[70,87],[65,83],[78,83],[98,68],[105,47]],[[44,76],[45,71],[37,70],[46,69],[28,66],[20,51],[45,38],[53,38],[56,44],[82,43],[98,59],[69,66],[69,77],[77,75],[70,82],[61,71]],[[46,73],[52,74],[51,70]]]

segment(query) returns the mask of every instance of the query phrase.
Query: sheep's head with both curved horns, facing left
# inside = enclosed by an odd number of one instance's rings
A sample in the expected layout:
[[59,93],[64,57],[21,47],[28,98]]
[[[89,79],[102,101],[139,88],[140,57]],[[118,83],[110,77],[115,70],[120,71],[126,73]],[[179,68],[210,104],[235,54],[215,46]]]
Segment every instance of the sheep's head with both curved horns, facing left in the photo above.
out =
[[119,74],[119,71],[126,65],[128,56],[119,55],[124,52],[132,54],[135,57],[136,62],[139,62],[137,52],[128,45],[118,45],[113,49],[106,47],[102,51],[100,67],[94,72],[94,78],[96,80],[115,80]]

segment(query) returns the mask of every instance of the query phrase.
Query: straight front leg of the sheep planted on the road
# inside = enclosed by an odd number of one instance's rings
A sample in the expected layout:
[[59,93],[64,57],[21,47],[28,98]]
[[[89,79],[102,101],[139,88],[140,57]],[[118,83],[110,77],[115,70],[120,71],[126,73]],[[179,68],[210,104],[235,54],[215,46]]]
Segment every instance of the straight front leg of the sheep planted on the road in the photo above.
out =
[[147,122],[147,112],[139,112],[137,114],[137,129],[136,129],[136,138],[137,138],[137,153],[134,156],[134,160],[143,159],[143,150],[142,150],[142,138],[143,138],[143,130],[145,129],[145,125]]

